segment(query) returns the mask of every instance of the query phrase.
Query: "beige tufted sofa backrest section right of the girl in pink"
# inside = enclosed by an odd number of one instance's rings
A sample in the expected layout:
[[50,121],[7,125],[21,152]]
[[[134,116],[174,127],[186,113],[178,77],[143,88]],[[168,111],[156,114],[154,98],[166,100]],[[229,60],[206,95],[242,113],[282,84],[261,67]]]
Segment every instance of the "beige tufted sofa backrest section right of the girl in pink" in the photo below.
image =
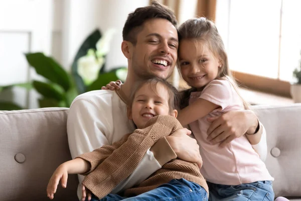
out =
[[265,164],[277,196],[301,196],[301,104],[253,107],[267,134]]

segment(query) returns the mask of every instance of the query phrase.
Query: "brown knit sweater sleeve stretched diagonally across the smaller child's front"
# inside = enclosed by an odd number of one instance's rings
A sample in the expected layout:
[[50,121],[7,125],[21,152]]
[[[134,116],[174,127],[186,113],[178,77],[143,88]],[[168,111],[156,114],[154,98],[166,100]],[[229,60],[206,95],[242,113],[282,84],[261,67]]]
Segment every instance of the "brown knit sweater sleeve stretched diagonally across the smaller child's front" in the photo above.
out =
[[179,121],[171,116],[150,119],[143,129],[136,129],[118,149],[96,166],[85,177],[83,185],[98,198],[104,197],[135,170],[150,147],[180,128]]

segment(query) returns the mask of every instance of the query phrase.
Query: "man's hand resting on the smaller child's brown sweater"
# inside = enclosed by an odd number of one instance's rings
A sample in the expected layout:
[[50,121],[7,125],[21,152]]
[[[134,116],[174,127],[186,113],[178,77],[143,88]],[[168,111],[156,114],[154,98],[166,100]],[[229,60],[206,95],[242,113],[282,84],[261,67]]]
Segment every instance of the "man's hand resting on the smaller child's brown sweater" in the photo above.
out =
[[190,134],[191,131],[186,128],[179,129],[172,135],[166,137],[166,139],[178,158],[189,162],[196,162],[199,168],[201,168],[203,161],[200,155],[199,145],[195,139],[189,137]]

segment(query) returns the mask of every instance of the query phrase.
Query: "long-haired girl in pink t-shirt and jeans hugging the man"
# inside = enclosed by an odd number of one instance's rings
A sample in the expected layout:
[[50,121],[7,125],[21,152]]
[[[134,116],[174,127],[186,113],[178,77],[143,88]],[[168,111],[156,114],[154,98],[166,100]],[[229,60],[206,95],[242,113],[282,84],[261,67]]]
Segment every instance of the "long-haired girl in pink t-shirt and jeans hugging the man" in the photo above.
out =
[[178,67],[191,88],[184,92],[178,120],[190,126],[200,146],[209,200],[273,200],[273,177],[251,145],[260,138],[248,138],[251,134],[246,133],[226,139],[232,141],[223,147],[208,139],[207,118],[249,109],[231,77],[216,26],[206,18],[188,20],[179,27],[179,41]]

